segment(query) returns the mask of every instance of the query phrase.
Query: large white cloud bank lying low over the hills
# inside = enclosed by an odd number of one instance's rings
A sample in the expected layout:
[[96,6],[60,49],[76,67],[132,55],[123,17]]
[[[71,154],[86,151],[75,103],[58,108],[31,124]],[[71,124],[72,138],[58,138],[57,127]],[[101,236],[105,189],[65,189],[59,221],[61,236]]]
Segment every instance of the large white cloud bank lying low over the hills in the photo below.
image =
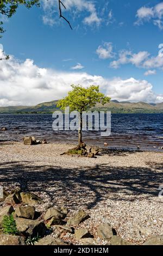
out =
[[99,85],[103,93],[120,101],[163,101],[163,95],[156,95],[146,80],[109,80],[86,72],[62,72],[40,68],[31,59],[21,62],[10,56],[8,61],[0,63],[0,106],[29,106],[58,100],[67,95],[72,83],[85,87]]

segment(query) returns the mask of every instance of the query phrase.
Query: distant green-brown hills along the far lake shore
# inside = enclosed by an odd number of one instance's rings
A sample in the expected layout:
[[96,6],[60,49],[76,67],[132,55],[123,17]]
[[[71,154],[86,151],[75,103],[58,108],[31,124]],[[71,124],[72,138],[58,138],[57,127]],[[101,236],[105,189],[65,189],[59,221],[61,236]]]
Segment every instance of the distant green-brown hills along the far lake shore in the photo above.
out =
[[[43,102],[36,106],[16,106],[16,107],[0,107],[0,113],[6,114],[30,114],[30,113],[53,113],[57,108],[57,100]],[[110,101],[104,106],[97,103],[92,110],[111,111],[112,113],[163,113],[163,102],[158,104],[148,104],[145,102],[119,102],[117,100]]]

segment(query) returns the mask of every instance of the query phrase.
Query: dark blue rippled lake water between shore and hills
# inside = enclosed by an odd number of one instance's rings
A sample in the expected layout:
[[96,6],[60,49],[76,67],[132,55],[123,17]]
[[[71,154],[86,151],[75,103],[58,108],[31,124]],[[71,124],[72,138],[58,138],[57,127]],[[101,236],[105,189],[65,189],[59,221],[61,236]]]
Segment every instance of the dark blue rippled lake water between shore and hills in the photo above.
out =
[[[48,142],[77,143],[77,131],[53,131],[52,114],[1,114],[0,141],[21,141],[23,136],[35,136]],[[163,114],[112,114],[111,135],[101,137],[99,131],[83,132],[83,141],[92,145],[117,149],[161,151],[163,147]]]

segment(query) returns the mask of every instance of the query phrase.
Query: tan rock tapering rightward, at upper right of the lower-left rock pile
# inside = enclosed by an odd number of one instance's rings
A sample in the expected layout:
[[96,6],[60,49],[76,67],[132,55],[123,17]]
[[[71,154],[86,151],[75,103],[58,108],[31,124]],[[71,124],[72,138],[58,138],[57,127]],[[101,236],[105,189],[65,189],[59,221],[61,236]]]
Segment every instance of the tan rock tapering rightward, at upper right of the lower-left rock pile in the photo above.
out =
[[35,194],[30,192],[21,192],[21,199],[24,204],[37,205],[43,203],[43,200],[40,197],[37,197]]

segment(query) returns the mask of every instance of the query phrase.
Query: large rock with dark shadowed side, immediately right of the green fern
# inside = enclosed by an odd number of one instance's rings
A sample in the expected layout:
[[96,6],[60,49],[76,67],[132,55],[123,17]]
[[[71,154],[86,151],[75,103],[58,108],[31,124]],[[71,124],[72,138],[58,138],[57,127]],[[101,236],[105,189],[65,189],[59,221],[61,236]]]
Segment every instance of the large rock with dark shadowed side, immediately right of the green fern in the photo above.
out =
[[27,220],[26,218],[15,218],[17,230],[21,233],[34,237],[43,237],[46,234],[46,225],[42,221]]

